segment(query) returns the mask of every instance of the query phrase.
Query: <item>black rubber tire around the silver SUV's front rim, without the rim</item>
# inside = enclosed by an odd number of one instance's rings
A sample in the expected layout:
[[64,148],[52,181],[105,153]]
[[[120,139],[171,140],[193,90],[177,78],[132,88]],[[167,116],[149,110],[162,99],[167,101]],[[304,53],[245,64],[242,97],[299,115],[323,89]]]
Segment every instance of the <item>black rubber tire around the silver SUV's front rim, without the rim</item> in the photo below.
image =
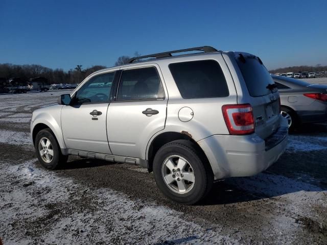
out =
[[[43,159],[43,157],[40,155],[39,142],[43,138],[48,139],[51,142],[51,148],[49,148],[49,150],[53,151],[53,157],[50,162],[46,162],[46,159]],[[37,133],[37,135],[35,137],[34,148],[35,148],[36,156],[37,156],[39,162],[41,163],[41,165],[43,167],[48,168],[48,169],[57,169],[57,168],[59,168],[61,163],[66,162],[68,159],[68,156],[61,154],[60,146],[50,129],[42,129],[41,131],[39,131]],[[46,149],[46,150],[48,150],[48,149]]]

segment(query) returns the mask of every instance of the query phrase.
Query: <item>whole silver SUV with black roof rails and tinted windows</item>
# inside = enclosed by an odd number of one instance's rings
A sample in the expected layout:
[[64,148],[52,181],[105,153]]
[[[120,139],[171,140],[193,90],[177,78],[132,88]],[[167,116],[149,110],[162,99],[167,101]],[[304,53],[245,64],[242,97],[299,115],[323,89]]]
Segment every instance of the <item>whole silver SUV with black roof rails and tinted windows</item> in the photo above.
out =
[[133,58],[91,74],[58,104],[33,112],[44,167],[68,155],[141,165],[183,204],[214,180],[260,173],[286,147],[276,86],[261,59],[242,52],[203,46]]

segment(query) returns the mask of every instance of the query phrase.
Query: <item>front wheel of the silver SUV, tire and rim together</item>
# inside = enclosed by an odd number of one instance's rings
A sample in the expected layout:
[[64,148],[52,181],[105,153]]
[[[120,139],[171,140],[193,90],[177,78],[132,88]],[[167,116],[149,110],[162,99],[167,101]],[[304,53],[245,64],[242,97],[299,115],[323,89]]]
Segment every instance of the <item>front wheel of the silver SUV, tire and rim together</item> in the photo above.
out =
[[37,133],[34,147],[39,162],[45,168],[56,169],[67,161],[68,156],[61,154],[59,144],[50,129]]

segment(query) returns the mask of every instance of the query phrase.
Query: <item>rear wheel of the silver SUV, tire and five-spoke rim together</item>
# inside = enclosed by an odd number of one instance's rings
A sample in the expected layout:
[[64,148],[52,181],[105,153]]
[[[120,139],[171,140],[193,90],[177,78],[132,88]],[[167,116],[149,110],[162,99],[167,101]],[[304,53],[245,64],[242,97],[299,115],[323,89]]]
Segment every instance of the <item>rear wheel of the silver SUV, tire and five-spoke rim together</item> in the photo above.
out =
[[196,145],[189,140],[175,140],[163,145],[153,164],[158,188],[175,202],[195,204],[212,188],[212,170]]

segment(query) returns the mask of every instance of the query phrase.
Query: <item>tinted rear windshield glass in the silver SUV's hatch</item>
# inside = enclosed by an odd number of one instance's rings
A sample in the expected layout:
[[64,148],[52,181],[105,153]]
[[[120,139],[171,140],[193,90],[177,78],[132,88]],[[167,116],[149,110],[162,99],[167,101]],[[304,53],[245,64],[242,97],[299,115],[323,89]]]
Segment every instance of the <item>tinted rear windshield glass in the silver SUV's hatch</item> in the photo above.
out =
[[267,88],[274,84],[268,70],[261,64],[258,57],[239,55],[236,56],[237,63],[242,72],[249,94],[252,97],[263,96],[271,93]]

